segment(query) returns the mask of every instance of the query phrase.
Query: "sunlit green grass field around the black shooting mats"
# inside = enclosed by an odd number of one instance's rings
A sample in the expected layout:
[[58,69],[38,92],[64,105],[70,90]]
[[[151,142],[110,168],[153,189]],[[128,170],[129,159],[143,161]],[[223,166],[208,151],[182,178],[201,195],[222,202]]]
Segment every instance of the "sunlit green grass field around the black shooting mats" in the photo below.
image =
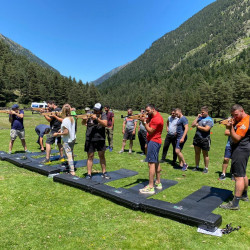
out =
[[[106,153],[108,171],[127,168],[138,175],[111,182],[114,187],[128,188],[138,179],[148,179],[147,163],[140,154],[139,141],[134,143],[134,152],[118,154],[122,144],[121,114],[115,112],[114,151]],[[28,149],[38,151],[36,125],[46,121],[39,115],[25,112],[25,131]],[[163,114],[164,120],[167,114]],[[194,117],[189,117],[190,123]],[[8,151],[9,128],[7,115],[0,118],[0,150]],[[183,153],[189,166],[194,167],[192,138],[194,129],[188,132],[188,141]],[[85,127],[78,123],[76,159],[86,159],[84,152]],[[166,130],[162,139],[166,136]],[[228,177],[218,181],[227,138],[224,127],[212,129],[209,173],[182,172],[169,163],[162,164],[162,178],[178,181],[178,184],[154,196],[156,199],[176,203],[203,185],[233,190],[234,182]],[[128,149],[128,145],[126,147]],[[22,150],[19,139],[13,152]],[[160,153],[161,156],[161,153]],[[172,159],[172,147],[168,153]],[[202,159],[202,158],[201,158]],[[203,162],[200,164],[203,167]],[[100,171],[99,165],[94,165]],[[247,169],[249,176],[249,167]],[[229,169],[228,169],[229,172]],[[82,177],[86,168],[78,169]],[[52,178],[0,162],[0,249],[250,249],[249,202],[240,202],[240,211],[213,211],[223,218],[222,227],[232,223],[241,225],[239,231],[223,237],[197,233],[191,227],[167,218],[140,211],[133,211],[104,198],[86,193],[60,183]]]

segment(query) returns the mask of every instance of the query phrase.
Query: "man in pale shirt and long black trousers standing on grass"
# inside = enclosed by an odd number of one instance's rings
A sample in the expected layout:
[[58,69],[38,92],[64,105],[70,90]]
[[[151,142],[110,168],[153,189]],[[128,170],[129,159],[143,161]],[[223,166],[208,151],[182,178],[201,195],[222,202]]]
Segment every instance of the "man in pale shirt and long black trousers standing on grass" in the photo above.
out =
[[169,148],[170,144],[172,144],[172,146],[173,146],[173,162],[172,162],[172,164],[175,165],[175,163],[176,163],[177,154],[175,152],[175,147],[176,147],[176,138],[177,138],[176,137],[177,136],[176,129],[177,129],[178,120],[179,120],[179,118],[176,117],[175,109],[172,109],[171,116],[168,117],[167,124],[166,124],[167,136],[165,138],[160,163],[165,162],[166,156],[167,156],[167,153],[168,153],[168,148]]

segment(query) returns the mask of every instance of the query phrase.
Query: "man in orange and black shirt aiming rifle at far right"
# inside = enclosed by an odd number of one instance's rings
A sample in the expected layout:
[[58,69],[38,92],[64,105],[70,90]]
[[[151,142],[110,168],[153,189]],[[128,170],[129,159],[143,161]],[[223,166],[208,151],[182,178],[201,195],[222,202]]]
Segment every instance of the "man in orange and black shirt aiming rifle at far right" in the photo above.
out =
[[229,131],[232,139],[231,173],[235,179],[234,198],[220,207],[238,210],[239,201],[248,201],[248,178],[246,175],[247,163],[250,155],[250,116],[245,113],[241,105],[235,104],[231,108],[233,119],[229,122]]

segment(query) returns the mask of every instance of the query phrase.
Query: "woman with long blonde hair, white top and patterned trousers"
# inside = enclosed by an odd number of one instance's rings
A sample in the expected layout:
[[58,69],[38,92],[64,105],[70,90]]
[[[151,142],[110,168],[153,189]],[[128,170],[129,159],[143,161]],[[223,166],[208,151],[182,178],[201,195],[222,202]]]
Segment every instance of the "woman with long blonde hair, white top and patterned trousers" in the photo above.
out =
[[61,136],[63,140],[63,149],[65,154],[67,155],[69,172],[72,175],[75,175],[75,166],[74,166],[74,156],[73,150],[76,140],[76,128],[75,128],[75,120],[71,115],[71,107],[69,104],[63,105],[62,108],[62,124],[60,132],[56,132],[53,134],[54,137]]

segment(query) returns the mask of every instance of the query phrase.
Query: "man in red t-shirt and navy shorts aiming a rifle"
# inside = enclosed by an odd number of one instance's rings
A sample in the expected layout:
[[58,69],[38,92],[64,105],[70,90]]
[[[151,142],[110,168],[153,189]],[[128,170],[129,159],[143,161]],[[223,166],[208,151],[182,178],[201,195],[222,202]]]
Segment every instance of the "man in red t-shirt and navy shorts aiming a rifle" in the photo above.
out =
[[[164,127],[164,121],[159,112],[156,111],[153,104],[148,104],[146,106],[146,114],[148,118],[141,118],[146,130],[147,130],[147,157],[146,162],[148,162],[149,167],[149,184],[140,189],[140,193],[154,194],[155,189],[162,189],[160,172],[161,166],[158,160],[159,151],[161,148],[161,134]],[[156,175],[156,182],[154,183],[154,176]]]

